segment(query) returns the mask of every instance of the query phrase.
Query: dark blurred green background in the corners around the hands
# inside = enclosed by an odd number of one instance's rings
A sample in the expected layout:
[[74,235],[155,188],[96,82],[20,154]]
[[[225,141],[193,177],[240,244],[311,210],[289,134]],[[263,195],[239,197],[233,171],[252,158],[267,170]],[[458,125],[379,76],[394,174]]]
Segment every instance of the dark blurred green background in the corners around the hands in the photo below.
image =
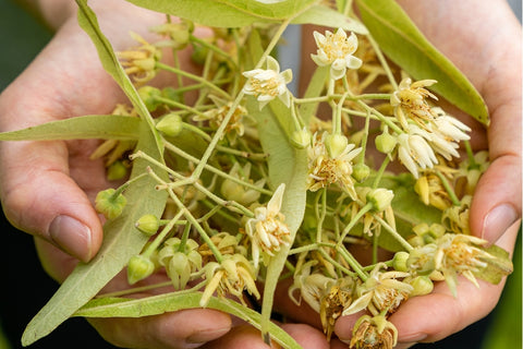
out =
[[[521,21],[521,1],[513,1],[513,9]],[[51,38],[52,33],[46,29],[41,23],[38,23],[23,9],[21,9],[14,1],[0,0],[0,92],[5,88],[23,70],[27,67],[34,57],[38,55],[46,43]],[[1,117],[1,116],[0,116]],[[26,234],[17,232],[11,228],[5,220],[2,220],[2,236],[8,237],[8,242],[14,241],[14,245],[9,244],[5,253],[2,253],[0,265],[8,267],[8,278],[2,278],[1,281],[1,303],[0,303],[0,328],[4,328],[4,333],[0,332],[0,349],[20,348],[20,336],[23,330],[23,324],[13,324],[13,315],[9,313],[8,304],[20,304],[16,318],[22,318],[25,324],[31,320],[36,311],[44,305],[47,300],[47,293],[41,292],[39,288],[41,285],[33,285],[33,293],[35,297],[26,296],[27,285],[31,281],[36,282],[41,278],[47,278],[36,261],[36,253],[34,251],[31,238]],[[521,231],[520,231],[521,232]],[[521,234],[520,234],[521,236]],[[11,240],[10,240],[11,239]],[[3,241],[3,240],[2,240]],[[2,246],[7,244],[2,243]],[[28,249],[17,251],[17,249]],[[14,250],[14,251],[13,251]],[[23,256],[20,258],[20,256]],[[21,261],[22,260],[22,261]],[[25,262],[25,267],[22,264]],[[452,336],[449,341],[442,341],[431,345],[416,346],[416,348],[467,348],[467,349],[514,349],[522,347],[522,280],[521,280],[521,237],[519,239],[516,252],[514,255],[514,273],[509,277],[508,286],[506,287],[501,301],[490,316],[482,321],[477,328],[471,328]],[[25,273],[25,274],[24,274]],[[32,275],[34,273],[34,275]],[[22,278],[17,279],[17,274],[24,274]],[[2,274],[3,275],[3,274]],[[35,276],[38,275],[38,276]],[[42,276],[44,275],[44,276]],[[21,280],[28,280],[24,284]],[[56,285],[50,279],[38,281],[47,282],[50,286],[48,294],[52,294]],[[36,297],[38,294],[39,298]],[[17,302],[17,303],[16,303]],[[31,305],[32,306],[25,306]],[[24,306],[22,306],[24,304]],[[29,311],[27,311],[29,309]],[[33,311],[34,310],[34,311]],[[27,312],[27,313],[25,313]],[[17,320],[19,321],[19,320]],[[19,321],[20,322],[20,321]],[[21,327],[22,326],[22,327]],[[85,323],[78,325],[80,329],[75,327],[74,332],[82,332],[71,335],[82,336],[82,341],[86,340],[84,336],[95,336],[93,329]],[[8,330],[9,329],[9,330]],[[472,337],[482,337],[485,333],[484,340],[481,345],[470,346],[469,340]],[[86,335],[87,334],[87,335]],[[81,348],[76,342],[60,341],[60,336],[64,334],[51,334],[58,337],[56,344],[37,344],[29,348],[62,348],[73,346]],[[9,338],[9,340],[8,340]],[[97,338],[97,340],[100,340]],[[87,342],[87,341],[86,341]],[[85,346],[84,346],[85,347]],[[90,346],[90,348],[101,348],[101,345]],[[105,346],[109,348],[109,346]]]

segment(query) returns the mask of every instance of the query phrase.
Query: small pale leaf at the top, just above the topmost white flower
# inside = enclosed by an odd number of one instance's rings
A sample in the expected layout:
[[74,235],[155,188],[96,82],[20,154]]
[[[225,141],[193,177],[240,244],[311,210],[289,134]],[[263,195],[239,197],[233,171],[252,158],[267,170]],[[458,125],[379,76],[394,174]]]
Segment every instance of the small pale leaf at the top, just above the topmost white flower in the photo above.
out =
[[327,5],[317,4],[311,7],[291,21],[292,24],[315,24],[328,26],[331,28],[342,28],[343,31],[354,32],[356,34],[367,35],[368,31],[362,23],[350,19],[342,13],[332,10]]

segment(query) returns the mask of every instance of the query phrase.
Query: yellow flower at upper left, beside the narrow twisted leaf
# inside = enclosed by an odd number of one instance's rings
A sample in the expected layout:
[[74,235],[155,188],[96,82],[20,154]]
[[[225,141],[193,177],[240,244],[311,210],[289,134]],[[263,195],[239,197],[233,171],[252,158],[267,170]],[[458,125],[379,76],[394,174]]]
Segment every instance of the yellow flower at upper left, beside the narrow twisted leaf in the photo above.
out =
[[136,33],[131,33],[131,37],[142,46],[117,52],[117,57],[121,60],[125,73],[136,83],[143,84],[156,76],[156,62],[160,60],[161,51]]

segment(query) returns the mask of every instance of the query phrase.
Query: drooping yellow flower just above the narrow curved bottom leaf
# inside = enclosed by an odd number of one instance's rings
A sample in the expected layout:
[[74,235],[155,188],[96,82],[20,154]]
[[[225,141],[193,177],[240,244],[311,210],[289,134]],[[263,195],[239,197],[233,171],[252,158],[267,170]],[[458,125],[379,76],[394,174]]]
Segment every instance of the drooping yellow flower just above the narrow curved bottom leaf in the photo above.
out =
[[254,282],[255,270],[243,255],[224,255],[221,264],[210,262],[204,269],[207,286],[199,300],[199,306],[205,308],[215,291],[219,297],[226,297],[228,293],[235,296],[245,306],[243,290],[259,299],[259,292]]

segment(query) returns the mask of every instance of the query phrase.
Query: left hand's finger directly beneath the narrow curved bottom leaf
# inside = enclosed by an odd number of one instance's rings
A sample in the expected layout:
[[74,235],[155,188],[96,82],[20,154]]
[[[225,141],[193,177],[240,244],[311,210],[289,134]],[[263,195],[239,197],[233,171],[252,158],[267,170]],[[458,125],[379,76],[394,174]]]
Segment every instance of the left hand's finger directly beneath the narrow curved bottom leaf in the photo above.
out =
[[107,341],[122,348],[198,348],[231,329],[230,316],[210,309],[138,318],[90,318],[89,322]]

